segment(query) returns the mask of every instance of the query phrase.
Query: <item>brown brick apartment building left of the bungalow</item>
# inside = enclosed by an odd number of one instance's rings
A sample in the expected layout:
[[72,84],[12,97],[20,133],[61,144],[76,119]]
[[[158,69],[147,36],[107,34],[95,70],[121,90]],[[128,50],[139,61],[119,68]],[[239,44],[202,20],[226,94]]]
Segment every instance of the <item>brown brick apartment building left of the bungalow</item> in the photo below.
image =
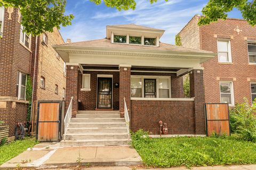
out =
[[35,127],[38,100],[65,98],[66,64],[52,48],[52,45],[64,43],[58,29],[37,36],[36,40],[22,32],[18,9],[8,11],[0,7],[0,120],[9,125],[12,140],[16,124],[27,121],[28,76],[32,82],[35,78],[35,107],[30,118]]

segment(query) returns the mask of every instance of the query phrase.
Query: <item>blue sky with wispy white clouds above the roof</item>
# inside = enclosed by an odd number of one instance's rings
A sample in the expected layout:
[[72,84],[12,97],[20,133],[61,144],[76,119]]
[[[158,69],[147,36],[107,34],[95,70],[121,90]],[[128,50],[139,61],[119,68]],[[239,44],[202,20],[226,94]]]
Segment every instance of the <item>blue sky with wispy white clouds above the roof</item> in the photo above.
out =
[[[118,11],[105,4],[95,5],[89,0],[67,0],[66,14],[75,16],[72,25],[60,29],[63,39],[72,42],[101,39],[106,37],[106,25],[138,24],[165,30],[160,41],[175,44],[175,35],[195,14],[201,14],[207,0],[137,0],[135,10]],[[241,13],[234,9],[229,18],[242,19]]]

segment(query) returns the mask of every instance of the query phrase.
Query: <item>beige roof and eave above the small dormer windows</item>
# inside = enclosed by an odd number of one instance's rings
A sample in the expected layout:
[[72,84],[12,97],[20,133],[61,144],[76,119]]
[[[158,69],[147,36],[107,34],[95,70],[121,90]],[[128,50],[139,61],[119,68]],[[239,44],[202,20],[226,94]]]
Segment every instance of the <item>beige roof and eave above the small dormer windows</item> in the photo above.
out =
[[111,32],[116,34],[129,34],[131,36],[148,36],[148,37],[159,37],[161,38],[164,30],[150,30],[150,29],[141,29],[141,28],[121,28],[115,26],[107,26],[106,37],[109,39],[111,37]]

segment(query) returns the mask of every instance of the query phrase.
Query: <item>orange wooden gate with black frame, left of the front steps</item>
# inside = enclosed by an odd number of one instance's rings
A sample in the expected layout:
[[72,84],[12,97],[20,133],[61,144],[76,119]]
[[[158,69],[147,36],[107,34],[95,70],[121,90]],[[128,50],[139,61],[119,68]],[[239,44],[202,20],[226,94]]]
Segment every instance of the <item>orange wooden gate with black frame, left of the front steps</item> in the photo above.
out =
[[62,101],[38,101],[36,139],[60,141]]

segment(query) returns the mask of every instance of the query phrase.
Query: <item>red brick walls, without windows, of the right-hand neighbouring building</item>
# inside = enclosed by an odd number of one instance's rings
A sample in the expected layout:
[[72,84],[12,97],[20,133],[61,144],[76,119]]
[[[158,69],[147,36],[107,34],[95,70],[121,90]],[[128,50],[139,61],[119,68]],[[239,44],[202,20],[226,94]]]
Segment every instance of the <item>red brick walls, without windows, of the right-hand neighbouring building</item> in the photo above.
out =
[[[233,82],[235,103],[242,103],[244,97],[251,101],[250,83],[256,82],[256,65],[249,64],[247,41],[256,40],[256,27],[239,19],[219,20],[198,27],[199,18],[195,15],[180,31],[182,46],[218,53],[217,40],[227,39],[231,48],[231,63],[220,63],[216,56],[202,64],[206,103],[220,103],[220,81]],[[237,27],[242,31],[237,32]]]

